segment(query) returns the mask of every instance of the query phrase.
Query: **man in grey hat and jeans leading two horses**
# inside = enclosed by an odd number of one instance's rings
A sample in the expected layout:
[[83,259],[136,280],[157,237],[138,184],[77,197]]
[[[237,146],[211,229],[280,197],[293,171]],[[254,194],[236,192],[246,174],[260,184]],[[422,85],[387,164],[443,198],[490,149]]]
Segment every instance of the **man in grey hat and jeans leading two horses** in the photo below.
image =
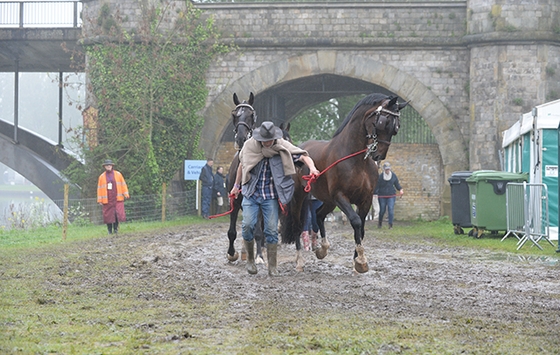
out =
[[286,205],[294,194],[295,162],[302,161],[311,175],[319,175],[315,163],[307,151],[282,138],[282,130],[274,123],[265,121],[253,131],[253,137],[245,142],[239,152],[239,168],[231,195],[243,193],[242,235],[247,250],[247,272],[257,273],[255,265],[255,239],[253,232],[257,215],[262,211],[264,236],[267,242],[268,275],[278,276],[278,210]]

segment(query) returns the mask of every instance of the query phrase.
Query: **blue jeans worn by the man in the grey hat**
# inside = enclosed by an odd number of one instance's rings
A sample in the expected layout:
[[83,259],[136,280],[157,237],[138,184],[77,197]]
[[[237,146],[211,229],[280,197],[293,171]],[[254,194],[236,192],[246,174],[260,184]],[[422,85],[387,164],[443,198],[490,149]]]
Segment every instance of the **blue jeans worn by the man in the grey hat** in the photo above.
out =
[[264,220],[264,237],[268,244],[278,244],[278,200],[265,200],[262,197],[243,197],[243,222],[241,223],[243,239],[253,240],[253,232],[257,224],[259,209]]

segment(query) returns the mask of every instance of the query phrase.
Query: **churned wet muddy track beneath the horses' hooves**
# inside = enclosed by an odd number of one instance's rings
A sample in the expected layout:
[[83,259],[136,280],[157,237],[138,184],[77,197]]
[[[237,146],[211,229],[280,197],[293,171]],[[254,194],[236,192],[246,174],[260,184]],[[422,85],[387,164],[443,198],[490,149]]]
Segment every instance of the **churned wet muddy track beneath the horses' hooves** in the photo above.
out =
[[[376,230],[369,223],[367,235],[372,236]],[[211,292],[225,300],[269,299],[293,309],[368,310],[395,319],[482,317],[500,322],[529,320],[543,329],[559,325],[560,268],[550,260],[369,237],[364,246],[370,271],[356,275],[351,227],[328,222],[327,230],[329,255],[318,260],[304,252],[302,273],[295,271],[295,247],[279,247],[279,278],[270,278],[264,264],[258,265],[257,275],[249,275],[244,262],[227,262],[225,223],[113,240],[142,255],[133,261],[135,272],[149,274],[140,277],[185,282],[190,297]],[[398,226],[393,233],[397,230]],[[237,250],[240,247],[239,236]],[[153,267],[143,268],[143,264]],[[165,290],[161,297],[166,297]]]

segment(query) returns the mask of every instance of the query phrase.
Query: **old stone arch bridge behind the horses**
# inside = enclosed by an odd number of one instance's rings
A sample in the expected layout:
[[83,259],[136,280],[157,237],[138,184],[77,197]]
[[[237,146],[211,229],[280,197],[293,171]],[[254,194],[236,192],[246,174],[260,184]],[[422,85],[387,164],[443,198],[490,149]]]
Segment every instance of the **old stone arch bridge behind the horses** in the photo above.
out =
[[[84,0],[84,16],[94,18],[101,3]],[[130,18],[139,6],[103,3]],[[499,169],[500,132],[560,92],[560,4],[554,1],[196,6],[239,48],[206,75],[200,144],[209,156],[231,135],[233,93],[256,93],[260,119],[279,123],[332,97],[380,91],[410,100],[432,130],[443,186],[453,171]]]

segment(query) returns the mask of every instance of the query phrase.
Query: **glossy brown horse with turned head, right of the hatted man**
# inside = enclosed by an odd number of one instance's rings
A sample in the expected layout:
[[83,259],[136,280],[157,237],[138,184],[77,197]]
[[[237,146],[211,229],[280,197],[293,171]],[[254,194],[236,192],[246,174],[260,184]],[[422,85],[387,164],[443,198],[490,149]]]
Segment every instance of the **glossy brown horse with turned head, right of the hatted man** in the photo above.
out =
[[[315,254],[319,259],[327,255],[329,248],[325,217],[338,207],[354,229],[354,268],[360,273],[369,269],[362,246],[364,224],[379,176],[377,162],[385,159],[391,138],[399,130],[399,111],[407,105],[399,104],[397,99],[383,94],[366,96],[354,106],[330,141],[307,141],[301,145],[321,171],[317,181],[311,183],[311,193],[323,201],[317,210],[321,247]],[[307,181],[303,176],[308,171],[305,167],[298,172],[296,192],[282,221],[282,242],[296,243],[298,271],[303,270],[298,241],[303,226],[302,205],[307,197],[304,191]]]

